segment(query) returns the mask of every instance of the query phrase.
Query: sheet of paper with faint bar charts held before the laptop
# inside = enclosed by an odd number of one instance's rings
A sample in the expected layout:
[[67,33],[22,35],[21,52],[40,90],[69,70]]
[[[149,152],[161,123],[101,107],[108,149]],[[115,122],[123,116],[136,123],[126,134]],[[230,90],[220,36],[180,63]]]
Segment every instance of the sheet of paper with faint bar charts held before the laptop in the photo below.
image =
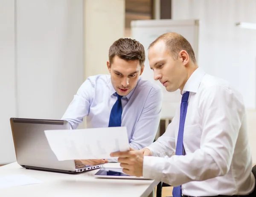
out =
[[44,131],[59,161],[108,159],[111,152],[128,151],[126,127]]

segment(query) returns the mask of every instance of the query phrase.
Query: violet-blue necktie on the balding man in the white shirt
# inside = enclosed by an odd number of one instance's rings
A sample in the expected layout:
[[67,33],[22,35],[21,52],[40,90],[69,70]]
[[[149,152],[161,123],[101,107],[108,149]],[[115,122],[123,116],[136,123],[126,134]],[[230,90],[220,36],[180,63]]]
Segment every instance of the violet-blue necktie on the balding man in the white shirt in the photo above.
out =
[[[176,144],[176,155],[183,155],[183,133],[184,133],[184,124],[186,120],[186,111],[188,108],[188,100],[189,100],[189,91],[183,93],[180,104],[180,125],[179,132],[177,137]],[[172,190],[173,197],[182,197],[181,195],[181,186],[176,186]]]

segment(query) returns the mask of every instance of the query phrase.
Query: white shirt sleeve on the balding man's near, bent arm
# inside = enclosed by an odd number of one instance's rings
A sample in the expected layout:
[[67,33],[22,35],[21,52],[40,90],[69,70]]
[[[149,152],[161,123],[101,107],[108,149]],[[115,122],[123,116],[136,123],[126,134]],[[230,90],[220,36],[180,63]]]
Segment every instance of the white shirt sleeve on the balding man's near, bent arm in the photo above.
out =
[[232,90],[217,86],[204,91],[198,110],[201,147],[172,157],[144,157],[143,176],[172,186],[224,176],[230,169],[245,109]]

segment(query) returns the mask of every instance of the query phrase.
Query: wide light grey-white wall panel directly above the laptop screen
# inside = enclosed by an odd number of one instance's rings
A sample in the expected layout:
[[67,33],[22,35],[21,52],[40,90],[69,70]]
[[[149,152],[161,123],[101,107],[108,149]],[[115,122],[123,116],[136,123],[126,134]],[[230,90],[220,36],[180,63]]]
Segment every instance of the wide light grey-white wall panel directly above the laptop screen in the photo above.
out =
[[17,0],[19,117],[62,117],[84,80],[83,37],[83,0]]

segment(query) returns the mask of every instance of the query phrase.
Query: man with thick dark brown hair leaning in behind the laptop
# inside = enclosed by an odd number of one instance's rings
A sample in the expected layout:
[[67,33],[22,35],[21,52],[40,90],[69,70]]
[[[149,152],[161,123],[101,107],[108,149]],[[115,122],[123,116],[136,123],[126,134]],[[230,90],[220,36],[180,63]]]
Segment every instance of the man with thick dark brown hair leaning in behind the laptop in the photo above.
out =
[[[160,121],[162,91],[142,80],[145,50],[130,38],[116,40],[109,49],[110,75],[88,77],[67,108],[63,120],[77,128],[87,116],[87,128],[126,126],[131,148],[150,145]],[[106,160],[82,160],[95,165]]]

